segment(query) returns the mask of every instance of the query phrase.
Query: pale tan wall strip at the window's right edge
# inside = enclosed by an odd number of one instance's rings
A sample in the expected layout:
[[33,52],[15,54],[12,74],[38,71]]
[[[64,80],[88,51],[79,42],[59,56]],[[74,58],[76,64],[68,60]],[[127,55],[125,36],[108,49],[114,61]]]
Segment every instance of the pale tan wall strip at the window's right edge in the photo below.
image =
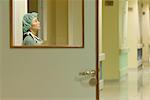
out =
[[68,41],[70,46],[82,45],[82,0],[68,1]]

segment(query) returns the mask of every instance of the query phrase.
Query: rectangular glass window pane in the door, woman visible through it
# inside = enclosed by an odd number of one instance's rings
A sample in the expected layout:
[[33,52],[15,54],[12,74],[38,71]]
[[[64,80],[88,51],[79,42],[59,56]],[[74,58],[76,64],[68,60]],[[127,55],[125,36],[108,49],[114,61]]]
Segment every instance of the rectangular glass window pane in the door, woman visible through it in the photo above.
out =
[[11,47],[83,47],[83,0],[12,0]]

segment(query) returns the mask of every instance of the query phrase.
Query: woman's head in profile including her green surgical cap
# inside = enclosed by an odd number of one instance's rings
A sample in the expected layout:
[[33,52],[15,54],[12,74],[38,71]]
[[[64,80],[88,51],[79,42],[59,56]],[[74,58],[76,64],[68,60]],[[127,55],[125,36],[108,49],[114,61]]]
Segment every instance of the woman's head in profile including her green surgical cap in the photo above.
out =
[[27,13],[24,15],[23,23],[23,33],[31,31],[38,31],[40,29],[40,22],[38,21],[38,14],[35,12]]

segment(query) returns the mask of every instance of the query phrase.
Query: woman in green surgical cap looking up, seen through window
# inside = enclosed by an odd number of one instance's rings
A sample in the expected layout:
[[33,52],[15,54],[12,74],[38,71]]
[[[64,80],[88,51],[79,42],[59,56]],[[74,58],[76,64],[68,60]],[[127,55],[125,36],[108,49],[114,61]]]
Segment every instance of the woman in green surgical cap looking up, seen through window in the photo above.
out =
[[23,45],[34,46],[40,45],[43,41],[37,36],[40,30],[40,22],[37,18],[37,13],[27,13],[23,20]]

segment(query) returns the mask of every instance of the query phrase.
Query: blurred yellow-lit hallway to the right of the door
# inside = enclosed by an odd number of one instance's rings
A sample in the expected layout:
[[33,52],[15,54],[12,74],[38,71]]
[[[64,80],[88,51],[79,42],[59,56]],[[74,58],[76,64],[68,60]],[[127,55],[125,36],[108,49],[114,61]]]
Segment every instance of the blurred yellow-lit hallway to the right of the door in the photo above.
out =
[[100,100],[150,100],[150,0],[99,5]]

